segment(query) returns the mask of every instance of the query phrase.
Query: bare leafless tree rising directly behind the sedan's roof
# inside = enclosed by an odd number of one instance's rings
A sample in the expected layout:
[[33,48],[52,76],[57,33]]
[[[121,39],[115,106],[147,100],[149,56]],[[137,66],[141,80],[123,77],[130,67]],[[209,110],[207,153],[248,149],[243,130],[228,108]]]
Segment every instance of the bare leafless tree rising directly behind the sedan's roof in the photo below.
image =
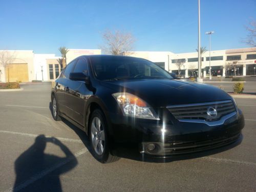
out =
[[120,55],[123,52],[131,51],[135,38],[132,33],[106,30],[102,33],[104,45],[100,46],[103,52],[112,55]]

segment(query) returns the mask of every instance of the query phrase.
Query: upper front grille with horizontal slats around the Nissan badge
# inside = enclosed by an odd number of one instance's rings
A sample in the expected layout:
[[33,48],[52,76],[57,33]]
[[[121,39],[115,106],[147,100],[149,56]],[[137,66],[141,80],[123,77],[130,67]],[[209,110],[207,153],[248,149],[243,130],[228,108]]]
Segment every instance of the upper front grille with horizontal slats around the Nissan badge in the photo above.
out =
[[[209,109],[217,111],[216,116],[207,114]],[[236,108],[231,100],[197,103],[197,104],[184,104],[167,106],[167,109],[178,120],[181,119],[202,119],[206,121],[216,121],[221,117],[236,111]]]

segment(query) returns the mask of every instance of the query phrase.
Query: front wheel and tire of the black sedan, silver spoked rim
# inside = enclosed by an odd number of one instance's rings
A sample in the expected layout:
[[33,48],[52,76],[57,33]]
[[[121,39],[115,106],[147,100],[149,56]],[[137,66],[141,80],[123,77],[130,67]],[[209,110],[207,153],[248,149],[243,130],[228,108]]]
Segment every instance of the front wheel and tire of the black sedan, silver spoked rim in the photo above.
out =
[[94,110],[89,126],[91,153],[101,163],[111,163],[120,159],[110,153],[107,129],[104,114],[99,109]]

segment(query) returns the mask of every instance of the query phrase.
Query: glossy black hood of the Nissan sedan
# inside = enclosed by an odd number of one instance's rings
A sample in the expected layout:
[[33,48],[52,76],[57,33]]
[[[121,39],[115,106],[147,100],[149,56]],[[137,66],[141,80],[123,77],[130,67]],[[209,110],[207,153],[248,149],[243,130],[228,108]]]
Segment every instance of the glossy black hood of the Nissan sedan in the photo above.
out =
[[231,99],[226,92],[214,86],[185,80],[136,79],[102,83],[114,92],[137,95],[153,107]]

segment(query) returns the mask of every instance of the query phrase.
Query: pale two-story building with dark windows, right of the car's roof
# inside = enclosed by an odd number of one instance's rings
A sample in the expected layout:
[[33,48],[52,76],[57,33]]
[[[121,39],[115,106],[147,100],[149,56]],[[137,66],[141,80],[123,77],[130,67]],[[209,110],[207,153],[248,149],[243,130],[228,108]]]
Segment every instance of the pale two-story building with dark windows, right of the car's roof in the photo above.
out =
[[[198,53],[172,53],[135,51],[123,55],[141,57],[155,62],[169,72],[181,77],[196,76],[198,73]],[[202,75],[209,76],[209,62],[212,76],[256,75],[256,48],[242,48],[209,51],[202,54]],[[180,66],[180,70],[178,69]],[[230,67],[233,66],[233,67]]]

